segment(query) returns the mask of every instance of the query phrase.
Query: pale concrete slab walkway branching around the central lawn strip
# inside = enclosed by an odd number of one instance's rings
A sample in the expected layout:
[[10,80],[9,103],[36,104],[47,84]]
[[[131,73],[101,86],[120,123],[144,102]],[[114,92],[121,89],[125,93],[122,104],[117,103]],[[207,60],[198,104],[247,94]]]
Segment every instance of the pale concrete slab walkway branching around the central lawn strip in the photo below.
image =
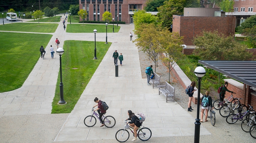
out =
[[[151,129],[152,137],[194,135],[195,120],[192,115],[176,102],[166,103],[165,97],[158,95],[158,89],[148,86],[146,79],[142,79],[138,49],[129,40],[129,33],[134,29],[134,25],[120,24],[120,26],[121,29],[118,33],[108,33],[108,42],[112,42],[112,45],[86,86],[74,110],[70,114],[63,114],[64,117],[68,117],[62,127],[56,127],[59,131],[53,133],[54,138],[52,140],[65,142],[114,139],[116,131],[123,127],[124,119],[128,117],[127,110],[132,110],[134,113],[143,112],[146,115],[144,126]],[[54,115],[50,113],[59,72],[59,57],[55,54],[55,58],[51,59],[49,47],[53,45],[54,50],[57,50],[55,38],[60,40],[59,47],[63,47],[65,40],[94,41],[94,33],[65,33],[62,22],[59,22],[59,27],[53,33],[53,37],[46,47],[46,59],[39,59],[21,88],[0,93],[0,118],[7,115],[16,115],[18,118],[24,118],[21,115],[30,115],[29,117],[33,118],[40,117],[42,114],[46,114],[41,119],[42,122],[45,118],[54,118]],[[97,33],[96,40],[105,41],[106,33]],[[112,59],[114,50],[124,55],[123,66],[118,67],[118,77],[115,77],[115,65]],[[65,54],[63,58],[65,58]],[[93,102],[95,97],[106,101],[110,106],[107,115],[112,115],[116,119],[116,125],[113,128],[100,128],[99,121],[94,127],[89,128],[84,125],[85,116],[91,114],[91,108],[95,105]],[[40,122],[40,118],[37,120]],[[59,118],[58,120],[63,121]],[[7,125],[10,125],[10,123]],[[4,128],[11,132],[11,127],[5,126]],[[54,131],[56,131],[56,128],[54,128]],[[37,130],[40,130],[40,128]],[[15,133],[18,131],[20,131],[20,128],[17,128]],[[100,133],[100,138],[99,131],[104,132]],[[11,139],[18,139],[15,136],[17,133],[15,133],[11,135]],[[210,135],[210,132],[202,125],[201,135]],[[8,137],[5,136],[6,142],[11,141]],[[22,136],[22,138],[25,140],[25,138],[30,137]]]

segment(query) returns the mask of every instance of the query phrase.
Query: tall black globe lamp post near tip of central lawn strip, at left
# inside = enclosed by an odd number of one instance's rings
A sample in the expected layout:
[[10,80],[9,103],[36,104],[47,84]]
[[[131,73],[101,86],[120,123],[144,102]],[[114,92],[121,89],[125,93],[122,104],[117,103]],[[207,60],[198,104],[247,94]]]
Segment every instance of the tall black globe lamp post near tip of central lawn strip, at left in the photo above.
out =
[[58,48],[56,53],[60,56],[60,101],[58,102],[59,105],[64,105],[66,104],[66,101],[64,100],[63,97],[63,83],[62,83],[62,63],[61,63],[61,56],[64,53],[63,48]]

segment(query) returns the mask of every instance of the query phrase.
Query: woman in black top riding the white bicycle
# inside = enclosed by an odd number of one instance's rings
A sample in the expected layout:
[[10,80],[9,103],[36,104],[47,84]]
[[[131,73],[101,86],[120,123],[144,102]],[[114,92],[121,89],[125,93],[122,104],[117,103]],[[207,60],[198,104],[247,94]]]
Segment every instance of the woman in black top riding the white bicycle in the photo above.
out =
[[135,114],[131,110],[128,110],[127,114],[129,115],[129,118],[126,120],[131,120],[128,123],[130,126],[133,127],[133,131],[134,131],[134,139],[132,139],[132,141],[136,141],[137,140],[137,130],[142,125],[142,122],[140,122],[139,118],[137,116],[135,116]]

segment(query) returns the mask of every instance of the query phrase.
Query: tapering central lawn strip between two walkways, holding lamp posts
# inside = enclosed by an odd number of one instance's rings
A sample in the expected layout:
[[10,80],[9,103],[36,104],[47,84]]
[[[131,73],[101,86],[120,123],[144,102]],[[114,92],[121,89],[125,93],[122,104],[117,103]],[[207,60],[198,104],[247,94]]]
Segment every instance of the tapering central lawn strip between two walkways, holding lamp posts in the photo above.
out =
[[94,60],[94,41],[65,41],[62,56],[62,82],[65,105],[58,105],[60,99],[60,74],[56,84],[52,113],[70,113],[85,90],[92,75],[105,56],[111,42],[96,42],[97,60]]

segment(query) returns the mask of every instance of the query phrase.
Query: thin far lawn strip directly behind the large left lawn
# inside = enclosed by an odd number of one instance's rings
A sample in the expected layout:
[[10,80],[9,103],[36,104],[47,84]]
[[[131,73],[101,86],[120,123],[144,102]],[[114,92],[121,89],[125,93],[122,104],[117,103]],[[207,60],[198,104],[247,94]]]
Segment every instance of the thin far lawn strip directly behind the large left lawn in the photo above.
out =
[[[53,23],[12,23],[0,25],[2,31],[54,33],[59,24]],[[28,39],[26,39],[28,40]]]

